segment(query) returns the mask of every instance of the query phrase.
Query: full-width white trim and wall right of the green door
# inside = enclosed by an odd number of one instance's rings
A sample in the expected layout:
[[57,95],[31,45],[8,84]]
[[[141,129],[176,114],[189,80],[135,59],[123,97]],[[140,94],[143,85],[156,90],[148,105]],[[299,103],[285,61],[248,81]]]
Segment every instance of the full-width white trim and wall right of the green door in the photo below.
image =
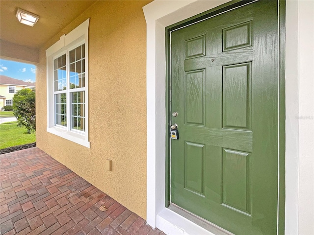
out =
[[286,15],[286,233],[314,234],[314,2]]

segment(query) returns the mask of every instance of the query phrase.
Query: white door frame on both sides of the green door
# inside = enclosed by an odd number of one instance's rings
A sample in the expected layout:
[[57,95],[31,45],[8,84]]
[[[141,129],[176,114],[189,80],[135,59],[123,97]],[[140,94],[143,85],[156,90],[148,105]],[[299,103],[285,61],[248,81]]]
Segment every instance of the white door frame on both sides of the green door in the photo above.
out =
[[[147,23],[147,223],[169,235],[211,233],[165,207],[165,27],[228,1],[154,0],[143,7]],[[313,223],[313,201],[309,205],[309,196],[314,198],[311,4],[313,1],[286,1],[286,234],[311,232]],[[306,181],[301,181],[303,176]]]

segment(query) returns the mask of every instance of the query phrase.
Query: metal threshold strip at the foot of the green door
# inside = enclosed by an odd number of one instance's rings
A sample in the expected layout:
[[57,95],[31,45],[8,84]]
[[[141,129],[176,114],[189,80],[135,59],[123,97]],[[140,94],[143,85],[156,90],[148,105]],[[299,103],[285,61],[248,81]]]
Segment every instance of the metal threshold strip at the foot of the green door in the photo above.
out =
[[180,214],[184,218],[188,219],[189,221],[193,222],[194,224],[206,229],[210,233],[214,235],[234,235],[233,233],[230,233],[229,231],[203,219],[200,216],[197,216],[196,214],[193,214],[189,211],[184,210],[183,208],[177,206],[174,203],[171,203],[168,207],[169,210],[176,212],[177,214]]

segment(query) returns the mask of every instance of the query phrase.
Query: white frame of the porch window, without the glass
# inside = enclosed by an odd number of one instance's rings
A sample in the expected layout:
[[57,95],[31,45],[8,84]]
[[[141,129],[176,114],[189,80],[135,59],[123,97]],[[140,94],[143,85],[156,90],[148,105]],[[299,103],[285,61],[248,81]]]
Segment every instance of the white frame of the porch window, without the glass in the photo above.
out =
[[[89,19],[78,25],[67,35],[62,35],[60,40],[46,50],[47,56],[47,132],[73,141],[85,147],[90,147],[88,135],[88,26]],[[53,83],[53,60],[68,51],[85,44],[85,132],[71,130],[71,92],[67,91],[67,127],[55,125],[55,103]],[[68,60],[68,59],[67,59]],[[67,68],[68,68],[67,64]],[[67,73],[69,73],[67,69]],[[69,81],[67,80],[67,85]],[[77,89],[75,89],[77,90]],[[74,91],[73,91],[74,92]]]

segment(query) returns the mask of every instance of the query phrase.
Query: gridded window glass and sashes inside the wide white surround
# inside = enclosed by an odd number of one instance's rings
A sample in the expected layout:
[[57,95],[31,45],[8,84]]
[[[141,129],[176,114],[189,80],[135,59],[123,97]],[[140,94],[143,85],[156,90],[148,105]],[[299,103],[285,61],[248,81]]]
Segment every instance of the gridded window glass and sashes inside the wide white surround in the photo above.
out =
[[53,82],[54,124],[64,127],[69,125],[70,130],[84,132],[85,44],[68,50],[53,60]]

